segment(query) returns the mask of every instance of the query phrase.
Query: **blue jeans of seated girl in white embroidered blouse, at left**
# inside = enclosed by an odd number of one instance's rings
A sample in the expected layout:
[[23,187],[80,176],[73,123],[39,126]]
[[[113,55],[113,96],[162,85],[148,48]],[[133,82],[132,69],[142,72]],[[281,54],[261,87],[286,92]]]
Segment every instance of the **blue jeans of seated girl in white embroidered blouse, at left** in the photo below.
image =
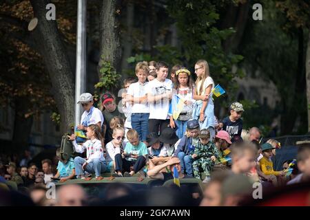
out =
[[74,158],[76,175],[84,175],[84,171],[87,171],[88,173],[95,173],[96,177],[99,177],[101,173],[105,172],[107,168],[107,164],[105,163],[105,161],[93,159],[92,162],[86,165],[85,170],[82,170],[82,166],[85,162],[86,159],[83,159],[82,157]]

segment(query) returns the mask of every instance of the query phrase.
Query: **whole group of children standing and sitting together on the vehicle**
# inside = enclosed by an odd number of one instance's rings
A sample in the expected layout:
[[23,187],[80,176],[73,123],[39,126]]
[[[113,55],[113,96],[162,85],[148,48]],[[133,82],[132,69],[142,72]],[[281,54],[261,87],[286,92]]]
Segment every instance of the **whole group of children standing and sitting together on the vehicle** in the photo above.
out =
[[[77,144],[76,135],[70,136],[76,152],[87,152],[87,159],[74,158],[76,177],[86,174],[90,179],[87,173],[95,173],[100,180],[103,172],[114,177],[135,173],[145,177],[149,170],[178,157],[180,173],[205,177],[205,182],[213,170],[231,168],[231,172],[245,173],[255,181],[278,185],[287,171],[274,171],[270,158],[280,145],[270,140],[260,146],[259,137],[242,141],[242,104],[232,103],[229,116],[217,122],[214,80],[207,61],[197,61],[196,83],[187,68],[176,65],[172,70],[169,80],[167,64],[140,62],[135,69],[137,80],[125,80],[121,108],[116,107],[114,96],[103,95],[103,118],[90,120],[90,115],[88,121],[93,124],[82,127],[88,140]],[[90,98],[80,101],[93,104]]]

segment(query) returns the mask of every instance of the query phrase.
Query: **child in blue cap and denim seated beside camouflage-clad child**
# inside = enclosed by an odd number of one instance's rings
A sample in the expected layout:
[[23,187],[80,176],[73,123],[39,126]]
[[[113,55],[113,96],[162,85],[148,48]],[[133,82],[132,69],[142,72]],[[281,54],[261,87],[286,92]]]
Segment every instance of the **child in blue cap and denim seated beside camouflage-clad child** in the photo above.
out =
[[174,152],[174,156],[180,159],[182,172],[187,175],[193,175],[191,152],[194,151],[194,146],[198,143],[199,131],[198,120],[189,120],[187,133],[181,138],[178,148]]

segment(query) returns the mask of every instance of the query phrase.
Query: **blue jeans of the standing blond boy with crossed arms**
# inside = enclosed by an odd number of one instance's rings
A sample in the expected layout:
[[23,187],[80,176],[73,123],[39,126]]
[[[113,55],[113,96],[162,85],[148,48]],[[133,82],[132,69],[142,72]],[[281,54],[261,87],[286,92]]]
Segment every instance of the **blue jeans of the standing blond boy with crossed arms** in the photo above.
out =
[[149,113],[132,113],[132,129],[139,134],[139,139],[146,141],[149,134]]

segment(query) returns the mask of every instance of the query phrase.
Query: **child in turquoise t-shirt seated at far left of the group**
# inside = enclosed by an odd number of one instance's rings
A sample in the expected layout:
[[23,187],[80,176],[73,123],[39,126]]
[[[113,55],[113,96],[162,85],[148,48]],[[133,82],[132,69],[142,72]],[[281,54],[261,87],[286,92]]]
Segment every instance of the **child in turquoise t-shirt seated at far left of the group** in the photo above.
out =
[[57,166],[57,173],[54,178],[60,178],[60,181],[67,181],[73,179],[75,176],[75,165],[72,158],[65,160],[61,157],[61,149],[56,150],[56,157],[59,159]]

